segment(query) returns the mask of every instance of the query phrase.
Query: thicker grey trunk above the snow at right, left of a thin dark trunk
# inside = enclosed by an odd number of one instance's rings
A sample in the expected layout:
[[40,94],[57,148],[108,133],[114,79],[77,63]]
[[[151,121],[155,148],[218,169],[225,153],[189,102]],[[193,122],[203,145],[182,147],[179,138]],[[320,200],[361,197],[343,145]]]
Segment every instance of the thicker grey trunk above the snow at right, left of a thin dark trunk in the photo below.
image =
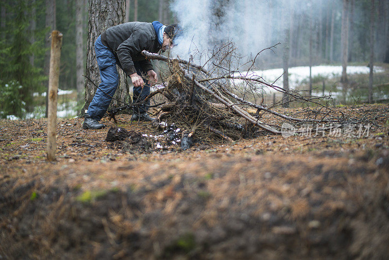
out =
[[343,10],[342,10],[342,29],[341,29],[341,45],[342,45],[342,77],[340,82],[347,83],[347,56],[348,56],[348,8],[349,0],[343,0]]

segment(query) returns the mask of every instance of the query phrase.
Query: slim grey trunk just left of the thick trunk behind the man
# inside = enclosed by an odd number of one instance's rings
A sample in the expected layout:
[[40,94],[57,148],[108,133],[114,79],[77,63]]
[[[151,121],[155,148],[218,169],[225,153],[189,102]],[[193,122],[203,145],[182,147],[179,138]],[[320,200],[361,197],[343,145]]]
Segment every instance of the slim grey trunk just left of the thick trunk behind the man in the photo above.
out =
[[76,0],[76,86],[78,101],[82,101],[84,94],[83,13],[84,0]]

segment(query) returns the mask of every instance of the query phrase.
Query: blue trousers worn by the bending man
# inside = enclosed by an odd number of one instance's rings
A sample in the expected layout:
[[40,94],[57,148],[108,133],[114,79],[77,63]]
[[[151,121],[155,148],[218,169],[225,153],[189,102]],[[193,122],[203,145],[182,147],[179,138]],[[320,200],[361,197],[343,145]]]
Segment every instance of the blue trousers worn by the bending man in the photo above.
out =
[[[116,64],[121,66],[119,60],[116,59],[115,55],[101,42],[101,37],[99,36],[94,43],[94,50],[96,52],[97,64],[99,65],[101,83],[99,88],[102,89],[105,93],[113,96],[118,88],[119,84],[119,74],[116,69]],[[139,75],[142,76],[142,79],[145,83],[144,87],[134,87],[134,98],[133,103],[140,102],[150,94],[150,86],[148,81],[144,78],[146,72],[142,70],[139,62],[134,61],[134,66]],[[109,103],[111,103],[112,98],[103,93],[101,90],[97,89],[96,93],[93,96],[92,102],[90,102],[88,107],[88,114],[91,118],[100,120],[106,110],[108,109]],[[142,104],[141,106],[134,108],[134,112],[144,112],[147,110],[148,104]]]

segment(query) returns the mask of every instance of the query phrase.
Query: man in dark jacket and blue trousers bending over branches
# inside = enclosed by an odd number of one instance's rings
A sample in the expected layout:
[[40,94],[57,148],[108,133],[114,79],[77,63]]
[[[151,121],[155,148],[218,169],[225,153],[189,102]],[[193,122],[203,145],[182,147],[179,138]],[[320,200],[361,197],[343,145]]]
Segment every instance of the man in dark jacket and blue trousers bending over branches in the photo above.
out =
[[[119,84],[119,74],[116,64],[131,77],[134,85],[133,103],[143,101],[150,94],[150,85],[146,76],[157,82],[157,74],[150,60],[141,55],[146,50],[157,53],[173,46],[173,38],[177,33],[177,24],[163,25],[159,21],[126,22],[108,28],[101,34],[95,44],[97,64],[99,65],[101,83],[99,88],[113,96]],[[105,114],[111,97],[97,89],[85,113],[83,129],[101,129],[99,123]],[[153,120],[147,114],[150,101],[134,107],[131,120]]]

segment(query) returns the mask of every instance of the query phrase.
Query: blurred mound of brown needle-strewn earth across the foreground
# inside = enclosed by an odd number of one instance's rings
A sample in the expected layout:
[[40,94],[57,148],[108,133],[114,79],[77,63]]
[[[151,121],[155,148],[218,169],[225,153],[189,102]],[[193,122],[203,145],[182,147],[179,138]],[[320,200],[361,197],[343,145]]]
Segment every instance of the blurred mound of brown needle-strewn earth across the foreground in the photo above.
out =
[[141,180],[126,190],[71,187],[65,176],[74,175],[73,167],[49,186],[39,175],[23,185],[6,177],[0,186],[7,194],[1,200],[2,254],[15,259],[382,259],[389,253],[389,233],[382,232],[389,228],[383,156],[356,154],[367,159],[352,167],[336,157],[305,162],[263,155],[185,168],[171,162],[127,163],[117,174],[135,171]]

